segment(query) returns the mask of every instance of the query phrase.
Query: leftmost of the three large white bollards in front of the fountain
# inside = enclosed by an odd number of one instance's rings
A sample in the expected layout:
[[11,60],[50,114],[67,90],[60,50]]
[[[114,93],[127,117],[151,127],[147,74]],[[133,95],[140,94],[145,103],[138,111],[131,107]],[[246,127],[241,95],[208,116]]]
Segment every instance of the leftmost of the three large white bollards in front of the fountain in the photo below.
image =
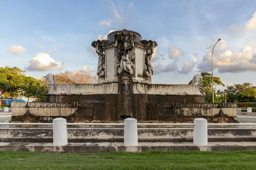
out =
[[56,118],[52,121],[53,127],[53,144],[66,145],[67,144],[67,120],[64,118]]

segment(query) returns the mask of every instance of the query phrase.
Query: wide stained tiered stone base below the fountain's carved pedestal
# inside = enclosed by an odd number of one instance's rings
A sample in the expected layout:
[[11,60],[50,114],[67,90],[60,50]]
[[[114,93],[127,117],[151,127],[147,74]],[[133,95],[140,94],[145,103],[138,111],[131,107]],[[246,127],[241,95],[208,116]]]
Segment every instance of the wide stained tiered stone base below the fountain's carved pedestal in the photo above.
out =
[[[122,74],[118,82],[53,83],[49,88],[45,102],[12,103],[12,122],[52,122],[57,117],[67,122],[118,122],[128,117],[141,122],[193,122],[198,117],[216,123],[237,121],[235,103],[204,103],[199,85],[194,84],[152,85]],[[87,94],[79,92],[83,89]]]

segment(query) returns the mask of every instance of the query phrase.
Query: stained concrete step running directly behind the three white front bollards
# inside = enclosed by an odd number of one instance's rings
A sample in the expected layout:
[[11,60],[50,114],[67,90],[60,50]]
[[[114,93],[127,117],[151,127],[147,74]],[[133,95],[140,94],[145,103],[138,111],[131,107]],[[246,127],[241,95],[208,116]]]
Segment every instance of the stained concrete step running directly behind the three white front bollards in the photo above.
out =
[[[124,142],[122,127],[67,128],[68,142]],[[139,142],[193,142],[192,128],[138,128]],[[208,128],[209,142],[256,141],[256,129]],[[0,142],[52,142],[52,127],[0,128]]]

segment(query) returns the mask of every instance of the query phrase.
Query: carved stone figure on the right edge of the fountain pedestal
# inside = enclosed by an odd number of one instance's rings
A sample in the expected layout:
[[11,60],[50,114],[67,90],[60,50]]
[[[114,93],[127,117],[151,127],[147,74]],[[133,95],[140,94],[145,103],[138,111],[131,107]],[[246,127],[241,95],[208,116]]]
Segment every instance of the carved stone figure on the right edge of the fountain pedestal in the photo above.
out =
[[157,42],[149,40],[147,42],[147,49],[145,54],[145,77],[151,77],[153,75],[153,67],[151,65],[151,57],[154,53],[154,48],[157,46]]

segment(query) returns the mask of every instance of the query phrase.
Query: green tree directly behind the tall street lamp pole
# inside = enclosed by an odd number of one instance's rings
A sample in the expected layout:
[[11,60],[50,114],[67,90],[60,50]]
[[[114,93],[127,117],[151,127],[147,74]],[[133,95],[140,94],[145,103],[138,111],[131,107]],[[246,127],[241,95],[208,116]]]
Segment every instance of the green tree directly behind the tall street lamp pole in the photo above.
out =
[[[203,79],[203,88],[202,91],[205,92],[205,102],[212,102],[212,74],[209,74],[207,72],[201,73],[202,79]],[[191,84],[192,81],[189,82]],[[223,82],[221,82],[220,77],[213,77],[213,85],[215,86],[225,86]],[[216,88],[214,88],[216,89]],[[216,95],[216,92],[214,90],[214,102],[219,102],[219,98]]]

